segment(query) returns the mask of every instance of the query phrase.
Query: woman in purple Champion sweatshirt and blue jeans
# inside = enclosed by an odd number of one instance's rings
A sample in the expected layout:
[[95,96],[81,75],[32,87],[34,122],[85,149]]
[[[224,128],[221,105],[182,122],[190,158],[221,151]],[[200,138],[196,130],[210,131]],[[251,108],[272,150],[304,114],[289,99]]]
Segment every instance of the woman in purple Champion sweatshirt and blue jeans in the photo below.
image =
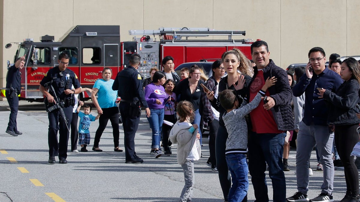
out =
[[166,81],[166,75],[163,72],[155,72],[153,81],[144,89],[145,100],[150,108],[150,117],[148,121],[152,129],[152,143],[150,155],[158,158],[162,155],[160,148],[160,134],[164,120],[164,104],[168,100],[163,84]]

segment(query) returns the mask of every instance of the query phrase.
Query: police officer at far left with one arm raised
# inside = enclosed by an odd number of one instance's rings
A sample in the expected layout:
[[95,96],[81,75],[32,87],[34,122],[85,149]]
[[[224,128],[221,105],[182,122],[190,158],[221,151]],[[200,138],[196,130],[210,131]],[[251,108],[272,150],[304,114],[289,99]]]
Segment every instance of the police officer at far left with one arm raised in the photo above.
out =
[[12,136],[18,136],[22,133],[18,131],[17,124],[16,124],[16,117],[18,115],[19,109],[19,97],[21,91],[21,72],[25,65],[25,58],[26,55],[18,58],[13,66],[10,66],[8,70],[8,74],[6,75],[6,89],[5,89],[5,96],[8,100],[10,106],[10,116],[9,116],[9,123],[8,128],[6,128],[6,133]]

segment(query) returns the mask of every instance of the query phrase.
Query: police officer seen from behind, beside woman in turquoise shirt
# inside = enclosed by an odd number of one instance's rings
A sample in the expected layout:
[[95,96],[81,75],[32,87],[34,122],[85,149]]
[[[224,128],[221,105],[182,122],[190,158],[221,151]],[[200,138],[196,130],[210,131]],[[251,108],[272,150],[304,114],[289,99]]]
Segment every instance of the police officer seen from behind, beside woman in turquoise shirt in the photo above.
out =
[[119,110],[125,133],[125,163],[127,164],[141,164],[144,162],[144,160],[136,156],[134,142],[140,121],[140,106],[144,106],[146,115],[150,116],[150,109],[145,101],[143,91],[143,80],[137,70],[140,59],[139,54],[132,54],[130,56],[130,66],[117,74],[112,86],[112,89],[117,90],[118,96],[121,97]]

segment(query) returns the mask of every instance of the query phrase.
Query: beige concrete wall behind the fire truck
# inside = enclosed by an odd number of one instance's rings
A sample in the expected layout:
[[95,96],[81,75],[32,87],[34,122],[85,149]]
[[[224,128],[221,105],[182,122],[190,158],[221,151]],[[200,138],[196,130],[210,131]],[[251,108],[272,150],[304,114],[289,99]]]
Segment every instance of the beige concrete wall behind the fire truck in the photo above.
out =
[[39,41],[45,34],[58,40],[75,25],[120,25],[121,41],[132,40],[130,29],[245,30],[245,37],[234,38],[267,41],[270,58],[282,68],[306,63],[315,46],[327,55],[360,55],[358,0],[1,0],[1,8],[0,87],[5,86],[6,60],[12,61],[16,51],[16,46],[5,49],[6,43],[27,37]]

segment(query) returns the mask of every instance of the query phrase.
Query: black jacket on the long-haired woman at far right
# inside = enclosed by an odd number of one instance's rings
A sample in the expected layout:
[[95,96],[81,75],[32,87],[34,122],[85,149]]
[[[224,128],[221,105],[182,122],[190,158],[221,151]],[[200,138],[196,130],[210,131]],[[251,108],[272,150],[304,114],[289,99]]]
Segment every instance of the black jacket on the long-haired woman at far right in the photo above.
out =
[[360,123],[360,119],[356,117],[359,110],[355,107],[360,102],[359,89],[359,82],[351,78],[349,81],[342,83],[336,93],[329,90],[324,92],[323,97],[327,101],[329,108],[328,124],[348,125]]

